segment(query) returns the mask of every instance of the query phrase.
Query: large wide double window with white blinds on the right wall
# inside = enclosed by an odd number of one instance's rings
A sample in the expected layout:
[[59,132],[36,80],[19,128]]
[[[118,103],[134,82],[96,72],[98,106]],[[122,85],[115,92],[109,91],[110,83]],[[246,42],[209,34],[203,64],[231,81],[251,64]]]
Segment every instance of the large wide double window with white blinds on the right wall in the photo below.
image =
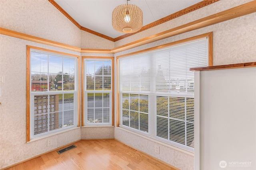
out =
[[194,72],[208,66],[208,38],[119,57],[120,127],[194,150]]

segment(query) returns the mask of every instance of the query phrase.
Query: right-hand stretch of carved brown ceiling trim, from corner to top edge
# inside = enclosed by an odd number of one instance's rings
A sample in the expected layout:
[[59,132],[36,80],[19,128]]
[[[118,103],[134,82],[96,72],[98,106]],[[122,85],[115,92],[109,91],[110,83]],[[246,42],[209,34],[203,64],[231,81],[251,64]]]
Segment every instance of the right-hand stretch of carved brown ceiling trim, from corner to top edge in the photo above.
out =
[[219,0],[204,0],[202,2],[198,2],[197,4],[194,4],[194,5],[192,5],[192,6],[188,7],[188,8],[185,8],[183,10],[175,12],[174,14],[171,14],[169,16],[161,18],[160,20],[157,20],[157,21],[154,21],[152,23],[149,23],[148,25],[143,26],[139,31],[137,31],[135,33],[127,33],[127,34],[121,35],[119,37],[116,37],[116,38],[114,38],[114,42],[119,41],[121,39],[124,39],[126,37],[129,37],[131,35],[134,35],[136,33],[145,31],[146,29],[150,29],[152,27],[155,27],[156,25],[159,25],[161,23],[173,20],[174,18],[178,18],[178,17],[180,17],[180,16],[182,16],[184,14],[188,14],[188,13],[194,11],[194,10],[198,10],[199,8],[202,8],[204,6],[210,5],[210,4],[212,4],[214,2],[217,2],[217,1],[219,1]]

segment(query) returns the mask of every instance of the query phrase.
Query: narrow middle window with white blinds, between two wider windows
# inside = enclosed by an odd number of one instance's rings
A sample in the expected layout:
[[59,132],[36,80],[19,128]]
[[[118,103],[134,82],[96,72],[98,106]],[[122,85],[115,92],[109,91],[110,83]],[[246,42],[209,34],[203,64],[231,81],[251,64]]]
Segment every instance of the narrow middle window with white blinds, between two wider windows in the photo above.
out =
[[83,57],[83,117],[85,126],[113,125],[113,61],[113,57],[99,59]]

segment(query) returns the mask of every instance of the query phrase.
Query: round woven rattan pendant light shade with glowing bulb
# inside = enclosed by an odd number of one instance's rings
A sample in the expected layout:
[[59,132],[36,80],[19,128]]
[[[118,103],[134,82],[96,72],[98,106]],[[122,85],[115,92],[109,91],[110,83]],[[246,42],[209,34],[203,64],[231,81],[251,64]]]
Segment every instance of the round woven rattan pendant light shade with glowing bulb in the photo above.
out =
[[142,10],[132,4],[117,6],[112,12],[112,26],[121,33],[134,33],[143,25]]

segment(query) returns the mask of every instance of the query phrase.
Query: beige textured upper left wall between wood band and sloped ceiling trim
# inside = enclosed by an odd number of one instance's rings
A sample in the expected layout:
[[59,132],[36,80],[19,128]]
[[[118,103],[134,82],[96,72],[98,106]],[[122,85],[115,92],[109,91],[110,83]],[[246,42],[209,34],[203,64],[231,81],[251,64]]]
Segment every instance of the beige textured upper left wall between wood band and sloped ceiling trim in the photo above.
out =
[[80,29],[48,0],[1,0],[0,27],[80,47]]

